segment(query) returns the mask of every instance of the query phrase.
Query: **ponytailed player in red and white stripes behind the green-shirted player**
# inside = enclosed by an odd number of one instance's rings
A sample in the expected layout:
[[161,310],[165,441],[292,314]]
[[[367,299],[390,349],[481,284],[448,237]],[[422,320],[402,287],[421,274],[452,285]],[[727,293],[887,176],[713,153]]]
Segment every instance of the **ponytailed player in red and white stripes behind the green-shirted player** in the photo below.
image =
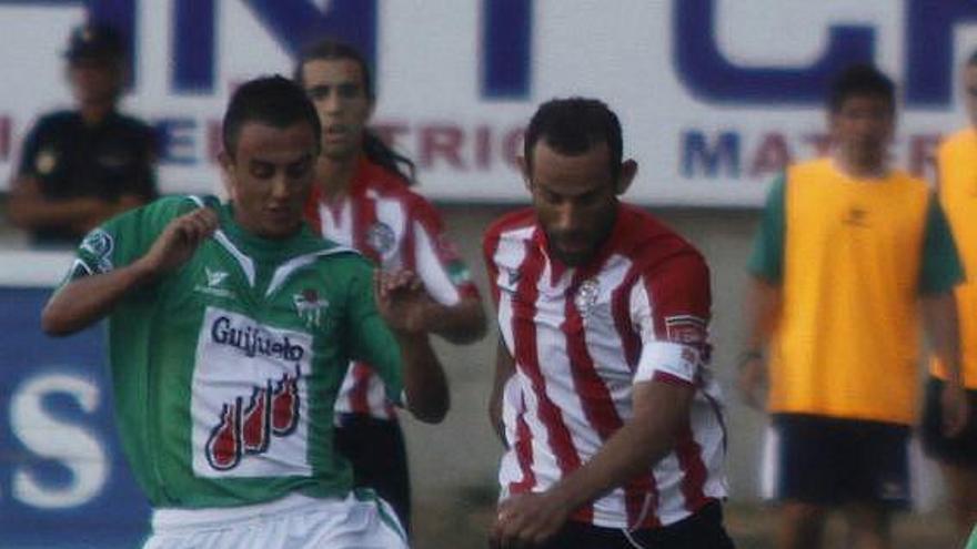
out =
[[[366,130],[375,98],[362,55],[324,40],[303,52],[295,80],[315,105],[323,130],[306,220],[324,237],[410,279],[417,292],[406,316],[416,332],[453,343],[481,338],[481,297],[437,211],[409,189],[413,164]],[[441,394],[446,407],[447,385],[442,382],[430,389]],[[352,461],[356,486],[375,489],[410,529],[403,434],[369,364],[351,365],[335,410],[336,447]]]

